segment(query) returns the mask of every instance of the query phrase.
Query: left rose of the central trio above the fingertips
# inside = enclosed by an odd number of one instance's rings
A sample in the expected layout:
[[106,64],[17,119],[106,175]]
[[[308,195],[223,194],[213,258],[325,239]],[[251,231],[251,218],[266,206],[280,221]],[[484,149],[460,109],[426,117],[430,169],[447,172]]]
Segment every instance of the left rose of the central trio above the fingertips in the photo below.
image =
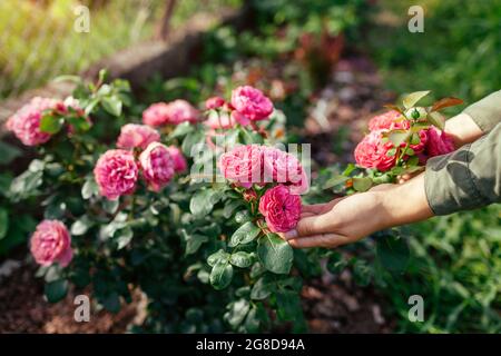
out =
[[263,148],[258,145],[237,146],[219,157],[218,167],[226,179],[250,188],[263,181]]

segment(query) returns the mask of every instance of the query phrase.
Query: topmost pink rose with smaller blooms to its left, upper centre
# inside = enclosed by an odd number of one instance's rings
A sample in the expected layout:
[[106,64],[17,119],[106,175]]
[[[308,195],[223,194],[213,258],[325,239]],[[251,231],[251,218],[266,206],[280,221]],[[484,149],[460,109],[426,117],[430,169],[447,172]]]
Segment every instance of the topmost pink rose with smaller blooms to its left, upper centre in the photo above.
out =
[[[259,89],[250,86],[238,87],[232,91],[230,102],[220,97],[206,100],[207,110],[220,110],[218,116],[209,116],[206,125],[213,129],[243,126],[252,121],[266,120],[273,112],[273,102]],[[223,115],[224,113],[224,115]]]

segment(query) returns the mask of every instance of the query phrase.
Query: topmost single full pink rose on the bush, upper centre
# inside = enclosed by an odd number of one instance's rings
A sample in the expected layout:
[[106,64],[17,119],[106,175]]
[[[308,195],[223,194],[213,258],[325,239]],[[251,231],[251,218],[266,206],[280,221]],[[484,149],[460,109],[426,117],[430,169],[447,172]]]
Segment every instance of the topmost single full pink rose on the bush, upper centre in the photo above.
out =
[[244,86],[232,92],[232,106],[250,121],[264,120],[273,112],[273,103],[256,88]]

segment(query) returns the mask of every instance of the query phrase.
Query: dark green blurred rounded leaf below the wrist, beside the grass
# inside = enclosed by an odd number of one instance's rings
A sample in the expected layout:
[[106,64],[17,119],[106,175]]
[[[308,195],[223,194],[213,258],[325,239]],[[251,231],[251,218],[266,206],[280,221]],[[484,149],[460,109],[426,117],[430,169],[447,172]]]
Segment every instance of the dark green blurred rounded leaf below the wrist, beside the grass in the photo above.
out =
[[392,271],[404,271],[411,251],[404,238],[386,236],[377,239],[376,256],[384,268]]

